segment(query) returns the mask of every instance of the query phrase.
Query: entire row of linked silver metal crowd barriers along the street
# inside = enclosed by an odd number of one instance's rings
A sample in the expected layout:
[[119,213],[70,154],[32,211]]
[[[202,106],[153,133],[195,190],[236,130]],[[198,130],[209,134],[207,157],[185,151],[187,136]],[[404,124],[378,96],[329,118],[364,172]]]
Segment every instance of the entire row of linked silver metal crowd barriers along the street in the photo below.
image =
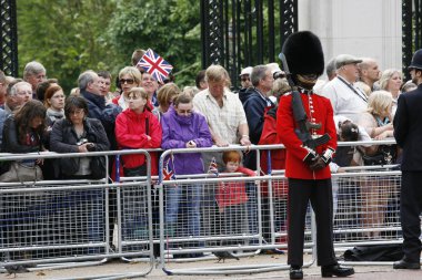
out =
[[[374,142],[346,142],[339,143],[339,146],[364,144],[373,145]],[[394,144],[394,141],[376,144]],[[254,273],[288,269],[289,266],[281,263],[277,258],[268,258],[264,263],[258,265],[249,263],[249,258],[245,258],[263,250],[287,249],[287,194],[280,191],[287,187],[284,170],[262,174],[259,153],[271,153],[280,148],[283,146],[170,149],[163,152],[160,157],[158,178],[151,177],[150,155],[143,149],[1,157],[0,160],[16,160],[140,153],[147,156],[148,176],[121,177],[118,182],[103,179],[0,184],[0,267],[13,263],[52,267],[52,263],[63,262],[63,266],[90,266],[111,258],[122,258],[127,261],[140,258],[148,262],[149,267],[145,266],[144,271],[139,274],[149,273],[155,261],[167,274]],[[215,176],[207,173],[205,164],[205,174],[175,174],[175,178],[164,179],[163,170],[168,156],[185,153],[205,155],[233,149],[257,153],[259,176],[245,177],[242,174],[223,173]],[[401,172],[395,165],[344,169],[344,173],[333,174],[332,177],[336,252],[343,252],[358,245],[401,243]],[[224,190],[230,184],[241,186],[248,200],[220,207],[215,194]],[[268,194],[262,191],[263,187],[268,188]],[[157,191],[158,204],[154,200]],[[115,209],[110,201],[115,204]],[[98,222],[99,220],[102,222]],[[304,263],[304,267],[315,261],[313,240],[314,219],[309,210],[304,248],[311,260]],[[230,260],[224,265],[195,269],[182,265],[218,260],[221,253],[227,252],[230,252],[231,257],[240,258],[240,261]],[[80,260],[97,262],[76,262]],[[115,277],[120,278],[122,274]]]

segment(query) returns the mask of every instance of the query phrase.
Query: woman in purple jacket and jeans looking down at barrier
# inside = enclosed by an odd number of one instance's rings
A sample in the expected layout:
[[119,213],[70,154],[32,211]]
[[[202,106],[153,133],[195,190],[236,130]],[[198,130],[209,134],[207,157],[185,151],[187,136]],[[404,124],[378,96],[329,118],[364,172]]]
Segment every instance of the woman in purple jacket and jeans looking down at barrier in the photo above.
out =
[[[174,106],[163,114],[161,118],[161,147],[163,149],[212,146],[211,133],[205,117],[192,112],[192,97],[188,94],[180,94],[174,100]],[[201,153],[175,154],[168,160],[168,165],[175,176],[204,173]],[[200,184],[167,187],[165,232],[170,237],[175,235],[178,237],[200,236],[201,196],[202,186]],[[187,230],[183,230],[182,222],[178,222],[179,210],[182,209],[179,206],[182,204],[185,207]]]

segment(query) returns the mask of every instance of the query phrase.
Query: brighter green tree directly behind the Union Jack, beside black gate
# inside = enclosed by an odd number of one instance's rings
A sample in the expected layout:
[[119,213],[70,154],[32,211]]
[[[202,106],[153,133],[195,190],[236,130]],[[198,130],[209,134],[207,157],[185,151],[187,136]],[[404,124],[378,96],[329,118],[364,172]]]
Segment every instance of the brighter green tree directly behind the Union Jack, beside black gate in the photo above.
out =
[[178,84],[192,84],[201,59],[199,1],[119,1],[107,38],[119,58],[114,65],[130,63],[134,49],[151,48],[174,66]]

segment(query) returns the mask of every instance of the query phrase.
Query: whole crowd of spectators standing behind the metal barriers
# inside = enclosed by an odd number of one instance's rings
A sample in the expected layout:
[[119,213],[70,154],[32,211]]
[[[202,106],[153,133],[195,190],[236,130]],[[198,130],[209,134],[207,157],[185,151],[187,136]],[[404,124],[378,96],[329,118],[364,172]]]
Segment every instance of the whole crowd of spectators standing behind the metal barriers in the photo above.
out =
[[[275,112],[278,100],[290,91],[290,86],[280,69],[274,70],[273,65],[244,68],[240,73],[242,89],[239,93],[233,93],[227,70],[220,65],[211,65],[198,73],[195,86],[181,91],[175,83],[168,81],[167,84],[160,84],[151,74],[139,69],[137,62],[142,55],[143,51],[137,50],[132,65],[119,71],[115,91],[111,90],[111,74],[101,70],[87,70],[81,73],[78,87],[70,94],[63,91],[59,80],[47,79],[47,70],[39,62],[33,61],[26,65],[23,79],[6,76],[0,71],[1,152],[89,153],[128,148],[170,149],[281,143],[275,132]],[[358,137],[362,134],[369,135],[364,139],[393,136],[392,120],[398,96],[403,91],[414,89],[414,84],[403,84],[399,70],[380,71],[375,60],[358,59],[350,54],[333,58],[326,66],[326,74],[328,81],[319,83],[315,92],[330,100],[335,117],[344,117],[338,127],[339,141],[362,139]],[[352,136],[348,138],[342,129],[351,132]],[[388,148],[390,162],[381,164],[396,163],[400,152],[395,146]],[[333,167],[332,172],[342,172],[339,167],[374,164],[374,158],[381,152],[385,155],[384,149],[385,146],[380,145],[348,149],[343,153],[345,157],[338,157],[340,166]],[[284,169],[284,157],[283,151],[273,151],[271,155],[262,152],[262,174],[271,169]],[[53,173],[42,168],[44,178],[98,178],[102,174],[98,168],[104,166],[101,160],[99,163],[91,157],[54,160],[57,164],[50,163]],[[244,173],[248,175],[257,175],[254,152],[245,155],[230,154],[225,157],[222,153],[180,154],[170,165],[177,175],[202,174],[212,160],[215,160],[220,172],[247,170]],[[242,162],[249,169],[239,167]],[[43,160],[23,160],[21,164],[40,167],[48,165]],[[152,175],[157,175],[157,154],[152,154],[151,164]],[[230,167],[231,165],[237,168]],[[2,166],[3,175],[8,173],[8,168],[10,167]],[[2,180],[3,175],[0,182],[6,182]],[[120,176],[144,175],[147,167],[143,155],[127,155],[121,158]],[[385,184],[382,187],[373,184],[368,182],[361,188],[362,196],[365,197],[362,201],[365,208],[362,220],[368,227],[383,224],[384,216],[374,217],[373,214],[384,212],[388,203],[385,196],[390,194]],[[229,235],[239,231],[244,225],[235,225],[235,229],[227,227],[234,222],[229,214],[231,209],[243,208],[249,200],[257,199],[257,190],[253,189],[254,185],[221,185],[215,190],[214,186],[192,184],[187,186],[189,191],[183,193],[180,188],[169,188],[165,209],[168,232],[177,232],[174,224],[183,196],[184,200],[189,200],[188,235],[199,236],[201,230],[213,232],[214,228],[208,221],[214,220],[218,212],[223,214],[224,232]],[[268,195],[265,184],[262,186],[265,219],[269,217]],[[224,188],[232,188],[232,191],[224,191]],[[275,198],[285,201],[287,186],[281,184],[273,188]],[[230,197],[224,198],[224,194]],[[373,196],[382,197],[383,203],[374,204],[376,199]],[[252,226],[249,225],[251,230]]]

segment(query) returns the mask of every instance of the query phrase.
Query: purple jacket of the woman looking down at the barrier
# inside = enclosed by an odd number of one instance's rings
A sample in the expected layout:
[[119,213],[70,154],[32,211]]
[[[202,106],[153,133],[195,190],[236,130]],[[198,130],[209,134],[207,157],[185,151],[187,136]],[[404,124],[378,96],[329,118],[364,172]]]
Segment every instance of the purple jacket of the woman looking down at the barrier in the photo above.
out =
[[[205,117],[192,113],[189,117],[179,116],[173,107],[161,117],[163,149],[185,148],[189,141],[197,143],[197,147],[211,147],[212,139]],[[170,167],[175,176],[187,174],[202,174],[203,163],[201,153],[174,154]],[[173,165],[174,164],[174,165]]]

